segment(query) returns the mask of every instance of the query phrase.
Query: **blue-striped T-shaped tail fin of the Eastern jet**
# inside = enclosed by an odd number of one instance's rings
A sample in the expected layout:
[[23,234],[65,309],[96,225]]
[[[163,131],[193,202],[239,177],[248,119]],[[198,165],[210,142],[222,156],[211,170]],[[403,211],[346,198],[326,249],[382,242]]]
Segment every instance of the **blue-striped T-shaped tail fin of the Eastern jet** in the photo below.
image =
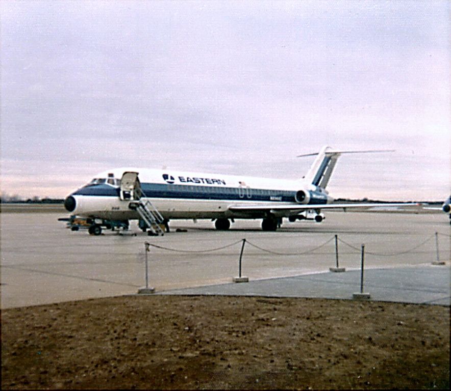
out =
[[297,157],[318,155],[309,172],[304,177],[305,181],[315,186],[325,188],[331,179],[335,164],[342,153],[370,153],[370,152],[394,152],[393,150],[370,150],[370,151],[334,151],[331,147],[324,146],[318,153],[298,155]]

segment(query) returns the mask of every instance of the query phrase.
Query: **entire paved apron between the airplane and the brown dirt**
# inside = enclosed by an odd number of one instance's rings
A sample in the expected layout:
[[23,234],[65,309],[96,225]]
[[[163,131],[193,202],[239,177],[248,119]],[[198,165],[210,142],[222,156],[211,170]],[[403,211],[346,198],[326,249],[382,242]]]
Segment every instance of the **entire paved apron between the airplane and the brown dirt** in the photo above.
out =
[[[364,293],[370,300],[450,305],[451,232],[443,213],[328,212],[320,224],[286,222],[277,232],[261,231],[259,220],[238,220],[228,232],[211,221],[180,220],[163,237],[148,237],[136,225],[101,236],[71,232],[58,221],[66,216],[2,206],[2,309],[137,294],[145,286],[144,242],[155,295],[361,299]],[[336,266],[335,235],[344,272],[329,271]],[[234,283],[241,249],[249,282]]]

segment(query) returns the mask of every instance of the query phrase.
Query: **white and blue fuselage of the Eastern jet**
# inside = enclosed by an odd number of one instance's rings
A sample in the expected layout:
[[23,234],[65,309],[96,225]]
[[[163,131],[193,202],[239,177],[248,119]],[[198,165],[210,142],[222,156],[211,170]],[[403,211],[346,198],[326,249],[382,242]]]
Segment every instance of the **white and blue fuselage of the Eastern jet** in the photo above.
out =
[[[186,218],[260,218],[259,211],[234,211],[236,206],[298,206],[296,192],[309,194],[304,203],[333,201],[324,190],[302,181],[275,180],[222,174],[121,168],[98,174],[90,184],[74,191],[72,205],[66,208],[78,216],[111,220],[137,219],[129,208],[130,200],[120,197],[126,172],[138,173],[141,200],[149,200],[167,219]],[[67,199],[66,199],[67,201]],[[72,209],[72,210],[71,210]],[[298,212],[296,212],[298,213]],[[289,216],[289,211],[274,215]]]

